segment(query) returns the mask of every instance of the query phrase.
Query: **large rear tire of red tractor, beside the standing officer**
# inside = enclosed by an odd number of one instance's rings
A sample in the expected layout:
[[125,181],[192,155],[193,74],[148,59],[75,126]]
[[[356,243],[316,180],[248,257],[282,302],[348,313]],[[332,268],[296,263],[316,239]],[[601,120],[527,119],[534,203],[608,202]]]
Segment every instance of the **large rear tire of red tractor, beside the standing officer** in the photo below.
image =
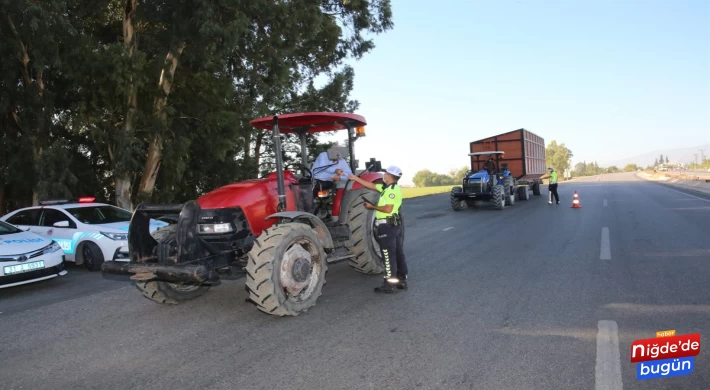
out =
[[353,239],[350,254],[354,257],[350,258],[348,264],[363,274],[381,274],[385,272],[385,263],[382,260],[380,245],[375,239],[375,210],[366,209],[363,199],[363,196],[367,195],[368,200],[377,203],[380,194],[364,188],[353,192],[355,198],[350,202],[347,218]]

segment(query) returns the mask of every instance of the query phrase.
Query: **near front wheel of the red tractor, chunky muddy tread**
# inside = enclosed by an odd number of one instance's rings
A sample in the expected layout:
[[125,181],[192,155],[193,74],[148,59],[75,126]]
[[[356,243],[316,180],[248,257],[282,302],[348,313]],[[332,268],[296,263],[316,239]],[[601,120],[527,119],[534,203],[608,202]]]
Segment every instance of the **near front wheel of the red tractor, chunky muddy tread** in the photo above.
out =
[[328,270],[323,244],[304,223],[266,229],[249,251],[246,289],[264,313],[297,316],[316,304]]

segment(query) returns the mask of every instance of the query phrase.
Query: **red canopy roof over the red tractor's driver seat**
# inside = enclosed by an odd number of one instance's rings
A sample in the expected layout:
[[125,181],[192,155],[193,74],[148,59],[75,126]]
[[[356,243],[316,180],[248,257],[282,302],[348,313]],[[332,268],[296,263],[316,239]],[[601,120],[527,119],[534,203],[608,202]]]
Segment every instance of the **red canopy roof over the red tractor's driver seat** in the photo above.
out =
[[[348,127],[358,128],[358,133],[364,133],[363,127],[367,125],[364,117],[345,112],[303,112],[276,116],[279,132],[287,134],[298,134],[304,130],[306,133],[321,133],[347,130]],[[273,130],[274,116],[254,119],[249,123],[260,129]]]

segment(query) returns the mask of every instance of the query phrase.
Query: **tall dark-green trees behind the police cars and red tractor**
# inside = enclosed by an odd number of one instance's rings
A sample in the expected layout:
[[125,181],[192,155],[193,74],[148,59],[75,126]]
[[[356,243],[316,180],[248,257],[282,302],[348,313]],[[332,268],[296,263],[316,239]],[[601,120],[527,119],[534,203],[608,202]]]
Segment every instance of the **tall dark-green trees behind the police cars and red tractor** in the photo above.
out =
[[[249,121],[354,112],[344,61],[393,28],[389,0],[0,0],[0,9],[1,212],[84,193],[123,207],[179,202],[259,176],[273,169],[273,142]],[[311,157],[327,146],[308,143]]]

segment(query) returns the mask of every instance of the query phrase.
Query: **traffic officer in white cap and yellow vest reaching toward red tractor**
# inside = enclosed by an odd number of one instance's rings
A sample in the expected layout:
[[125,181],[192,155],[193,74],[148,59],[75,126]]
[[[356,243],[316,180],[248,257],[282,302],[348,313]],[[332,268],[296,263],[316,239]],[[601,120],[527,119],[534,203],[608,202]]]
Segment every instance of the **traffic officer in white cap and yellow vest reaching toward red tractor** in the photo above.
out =
[[404,256],[404,237],[401,234],[402,190],[397,184],[402,177],[402,170],[394,165],[385,170],[385,184],[375,184],[362,180],[355,175],[348,175],[363,187],[378,191],[380,199],[377,205],[365,202],[365,207],[375,211],[377,242],[380,244],[382,259],[385,263],[385,281],[375,292],[393,293],[397,289],[407,289],[407,260]]

